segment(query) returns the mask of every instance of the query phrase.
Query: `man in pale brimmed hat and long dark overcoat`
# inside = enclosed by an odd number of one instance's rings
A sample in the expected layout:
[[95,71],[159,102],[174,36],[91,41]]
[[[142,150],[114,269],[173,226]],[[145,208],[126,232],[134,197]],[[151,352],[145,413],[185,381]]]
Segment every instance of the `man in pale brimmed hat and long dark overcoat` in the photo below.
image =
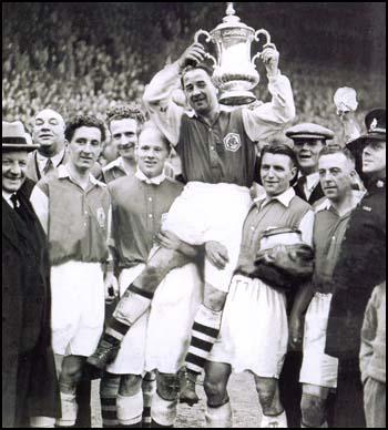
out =
[[29,202],[23,124],[2,122],[2,426],[54,427],[59,386],[51,348],[50,267]]

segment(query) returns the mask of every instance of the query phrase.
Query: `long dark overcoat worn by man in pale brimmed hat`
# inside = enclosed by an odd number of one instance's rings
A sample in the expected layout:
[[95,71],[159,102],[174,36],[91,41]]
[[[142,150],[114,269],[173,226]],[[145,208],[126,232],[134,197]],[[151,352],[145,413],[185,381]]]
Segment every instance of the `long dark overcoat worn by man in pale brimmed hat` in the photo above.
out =
[[[17,193],[19,215],[2,199],[2,426],[18,427],[27,417],[60,416],[59,386],[51,348],[51,295],[48,247],[29,202],[33,183]],[[31,378],[21,386],[21,358]],[[28,385],[27,385],[28,383]],[[22,391],[24,390],[24,391]],[[17,396],[25,392],[23,410]]]

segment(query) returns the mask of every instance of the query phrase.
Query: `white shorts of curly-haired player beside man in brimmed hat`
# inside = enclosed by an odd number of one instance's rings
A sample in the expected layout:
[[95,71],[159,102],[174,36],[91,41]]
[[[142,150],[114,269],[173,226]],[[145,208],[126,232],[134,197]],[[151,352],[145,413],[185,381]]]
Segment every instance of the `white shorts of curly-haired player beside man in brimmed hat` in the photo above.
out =
[[103,330],[104,280],[100,263],[51,267],[51,326],[55,354],[89,357]]

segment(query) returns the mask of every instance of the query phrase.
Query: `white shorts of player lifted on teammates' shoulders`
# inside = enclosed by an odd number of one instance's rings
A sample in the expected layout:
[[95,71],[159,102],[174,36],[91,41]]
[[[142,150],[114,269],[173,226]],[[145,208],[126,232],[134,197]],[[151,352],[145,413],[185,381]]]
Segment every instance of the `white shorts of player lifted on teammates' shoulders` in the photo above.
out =
[[172,204],[162,228],[191,245],[210,240],[223,244],[229,262],[219,270],[206,259],[205,281],[226,293],[237,264],[243,224],[251,205],[247,187],[190,182]]

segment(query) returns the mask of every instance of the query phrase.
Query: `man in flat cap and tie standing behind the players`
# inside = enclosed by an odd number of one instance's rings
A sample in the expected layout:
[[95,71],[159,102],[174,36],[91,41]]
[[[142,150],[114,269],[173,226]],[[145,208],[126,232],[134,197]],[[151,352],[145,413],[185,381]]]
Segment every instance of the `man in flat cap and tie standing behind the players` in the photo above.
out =
[[318,155],[326,146],[326,141],[334,137],[334,132],[314,123],[302,123],[286,130],[286,136],[294,142],[294,151],[298,162],[299,175],[295,193],[313,205],[324,197],[319,183]]

